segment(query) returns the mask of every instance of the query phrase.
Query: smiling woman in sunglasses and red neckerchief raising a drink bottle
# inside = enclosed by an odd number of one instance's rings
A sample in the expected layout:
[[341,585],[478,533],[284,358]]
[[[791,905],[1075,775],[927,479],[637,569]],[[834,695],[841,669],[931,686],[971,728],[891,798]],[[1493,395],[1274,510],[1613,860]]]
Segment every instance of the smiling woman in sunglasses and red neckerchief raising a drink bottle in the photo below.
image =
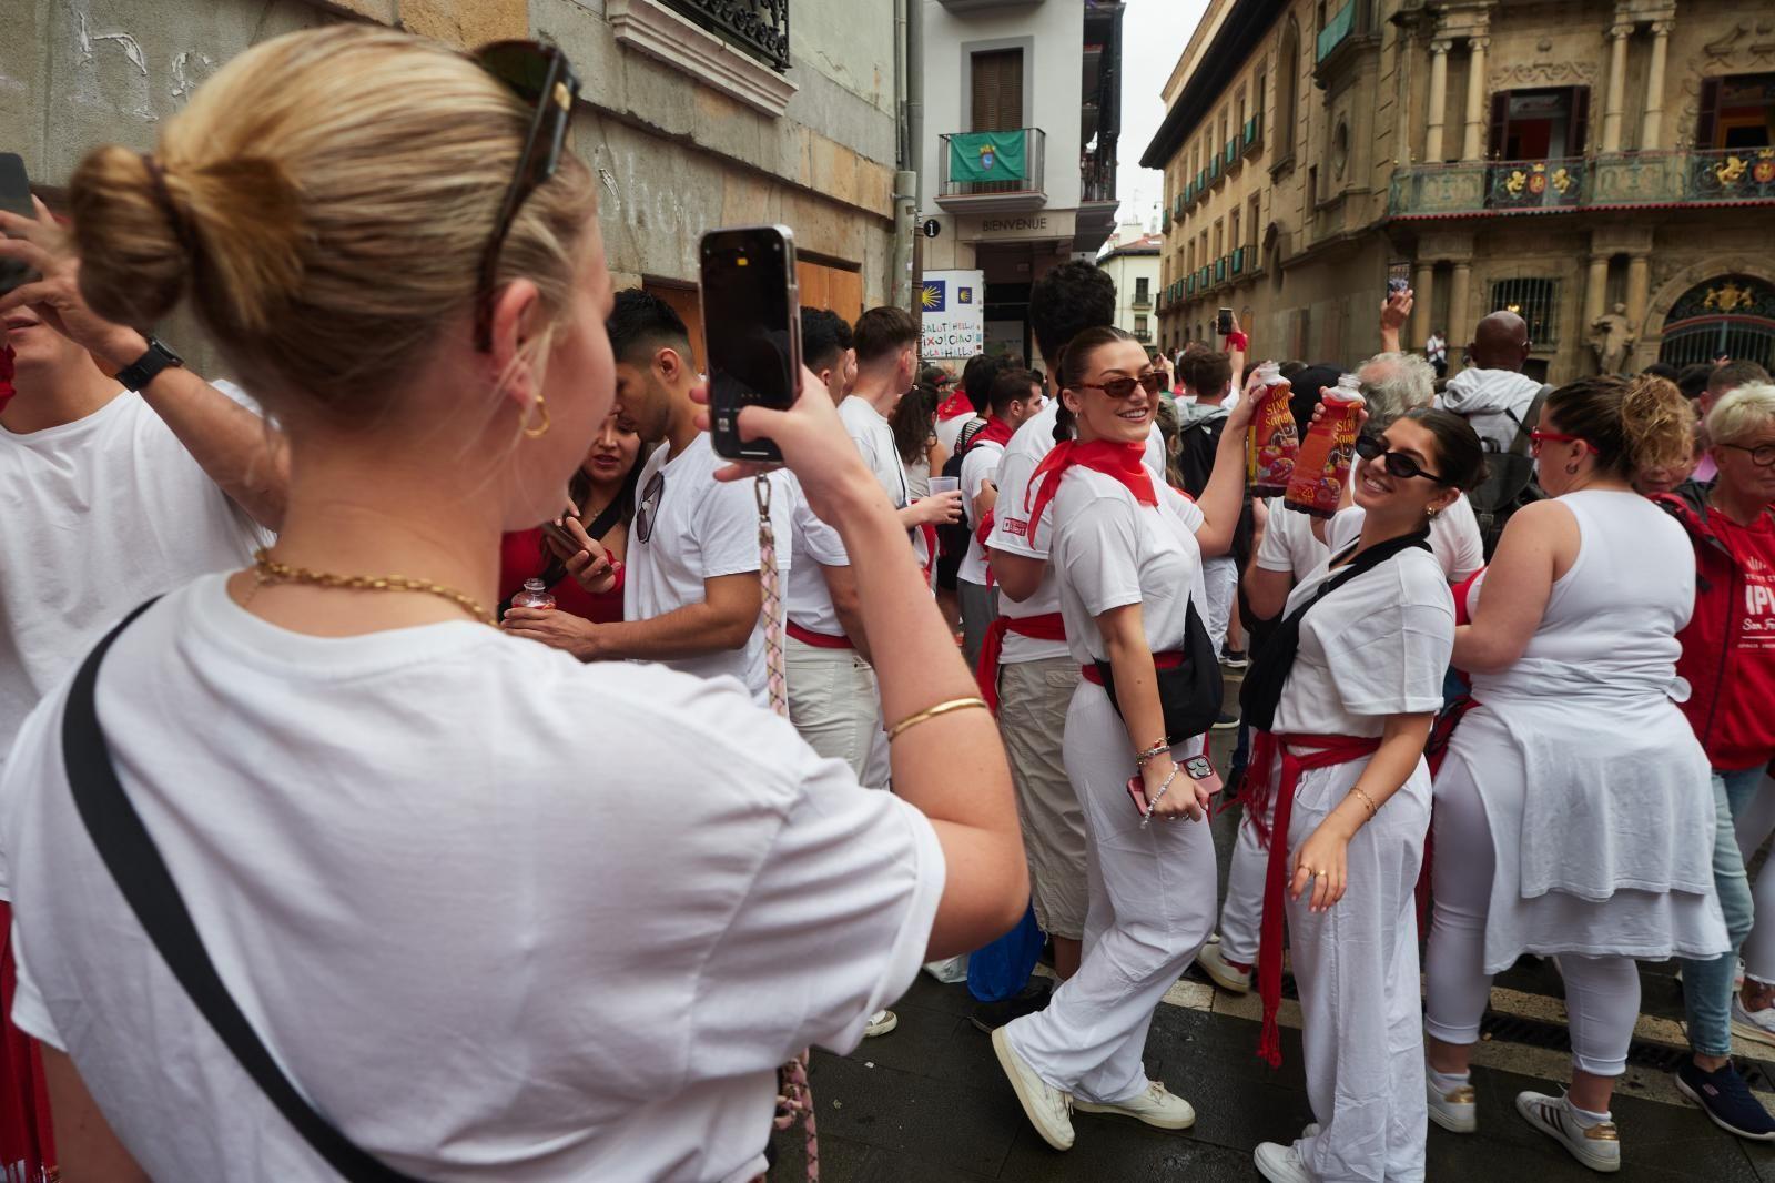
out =
[[1143,464],[1163,375],[1131,334],[1086,329],[1056,378],[1061,442],[1026,508],[1033,522],[1054,506],[1049,560],[1085,675],[1067,711],[1065,766],[1092,849],[1090,913],[1077,973],[1045,1011],[992,1032],[992,1046],[1037,1131],[1069,1149],[1070,1108],[1161,1130],[1195,1123],[1187,1101],[1147,1078],[1141,1052],[1159,998],[1214,925],[1207,806],[1219,782],[1200,734],[1166,734],[1159,671],[1182,664],[1187,638],[1207,645],[1202,558],[1232,544],[1251,403],[1234,409],[1198,506]]

